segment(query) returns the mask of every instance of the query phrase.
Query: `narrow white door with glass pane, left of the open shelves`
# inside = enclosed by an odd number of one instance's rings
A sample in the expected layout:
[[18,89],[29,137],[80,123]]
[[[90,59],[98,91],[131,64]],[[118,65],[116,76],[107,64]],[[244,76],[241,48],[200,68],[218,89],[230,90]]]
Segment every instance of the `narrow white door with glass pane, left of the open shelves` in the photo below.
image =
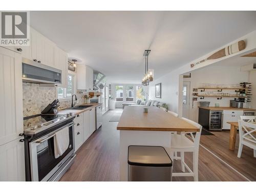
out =
[[190,82],[183,82],[182,117],[189,118]]

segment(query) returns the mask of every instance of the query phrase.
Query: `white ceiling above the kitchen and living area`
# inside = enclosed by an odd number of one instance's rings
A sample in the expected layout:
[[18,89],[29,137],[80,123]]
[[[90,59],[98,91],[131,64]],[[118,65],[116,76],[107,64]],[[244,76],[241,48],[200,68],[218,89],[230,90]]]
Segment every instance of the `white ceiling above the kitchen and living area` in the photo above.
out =
[[31,26],[110,82],[158,78],[256,30],[256,11],[31,11]]

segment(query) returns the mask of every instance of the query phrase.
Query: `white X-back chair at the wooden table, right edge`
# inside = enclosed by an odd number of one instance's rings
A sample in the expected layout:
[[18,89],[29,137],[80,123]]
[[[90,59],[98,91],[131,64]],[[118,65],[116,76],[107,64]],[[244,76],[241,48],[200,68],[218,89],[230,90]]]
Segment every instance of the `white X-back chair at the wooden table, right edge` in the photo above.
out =
[[241,157],[243,145],[253,149],[253,157],[256,157],[256,124],[238,120],[239,148],[238,158]]

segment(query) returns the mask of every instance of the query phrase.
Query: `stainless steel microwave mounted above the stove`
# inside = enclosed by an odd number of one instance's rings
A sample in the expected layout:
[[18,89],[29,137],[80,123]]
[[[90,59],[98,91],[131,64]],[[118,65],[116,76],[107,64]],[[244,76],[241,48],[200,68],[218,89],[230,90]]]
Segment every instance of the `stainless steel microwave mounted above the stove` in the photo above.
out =
[[61,70],[26,58],[22,59],[22,79],[24,82],[61,83]]

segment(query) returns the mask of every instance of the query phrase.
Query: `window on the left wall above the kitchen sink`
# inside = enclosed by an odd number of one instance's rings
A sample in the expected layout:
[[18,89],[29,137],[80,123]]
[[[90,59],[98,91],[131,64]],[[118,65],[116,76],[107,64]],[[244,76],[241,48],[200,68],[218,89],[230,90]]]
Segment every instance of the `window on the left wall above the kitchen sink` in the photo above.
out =
[[58,99],[68,99],[75,93],[75,75],[68,74],[67,88],[57,88]]

